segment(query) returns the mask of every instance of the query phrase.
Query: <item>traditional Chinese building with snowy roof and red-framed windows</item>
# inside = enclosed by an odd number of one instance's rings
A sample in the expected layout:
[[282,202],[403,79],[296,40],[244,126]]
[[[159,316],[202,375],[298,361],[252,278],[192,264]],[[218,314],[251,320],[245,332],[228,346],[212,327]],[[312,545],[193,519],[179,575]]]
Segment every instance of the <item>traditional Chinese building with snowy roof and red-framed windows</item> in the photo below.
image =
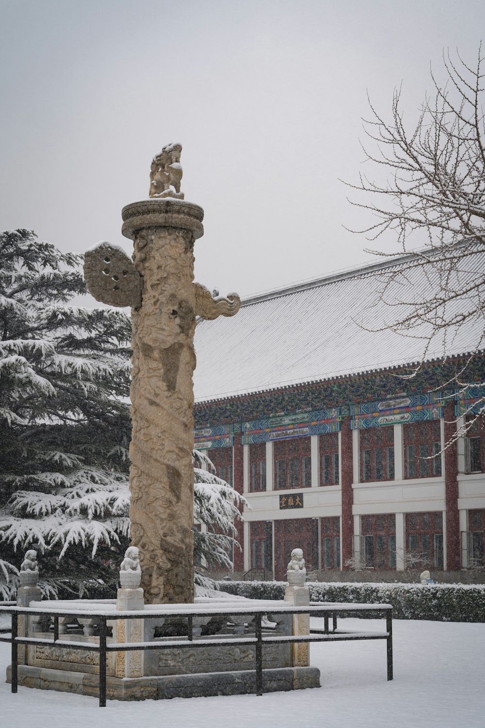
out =
[[[297,546],[326,579],[356,567],[483,566],[481,422],[443,450],[485,393],[446,384],[476,331],[463,325],[416,376],[400,376],[422,341],[377,331],[393,315],[377,281],[406,260],[253,296],[230,322],[197,325],[196,448],[251,505],[236,577],[284,578]],[[423,285],[419,276],[409,286]],[[484,381],[482,354],[466,376]]]

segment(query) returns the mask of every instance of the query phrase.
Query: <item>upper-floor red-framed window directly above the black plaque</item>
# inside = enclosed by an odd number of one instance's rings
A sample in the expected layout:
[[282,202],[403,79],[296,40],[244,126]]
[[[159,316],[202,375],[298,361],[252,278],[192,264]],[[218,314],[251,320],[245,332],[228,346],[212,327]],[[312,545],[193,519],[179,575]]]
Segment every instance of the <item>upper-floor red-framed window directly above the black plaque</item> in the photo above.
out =
[[294,438],[274,443],[274,472],[276,490],[310,488],[310,438]]

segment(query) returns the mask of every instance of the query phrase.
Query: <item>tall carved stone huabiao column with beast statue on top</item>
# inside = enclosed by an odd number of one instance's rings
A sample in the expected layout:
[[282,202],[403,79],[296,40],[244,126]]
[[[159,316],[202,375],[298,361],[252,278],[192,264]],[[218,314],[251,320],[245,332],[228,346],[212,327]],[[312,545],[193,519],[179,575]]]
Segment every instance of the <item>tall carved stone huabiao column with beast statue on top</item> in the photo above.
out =
[[169,144],[153,158],[150,199],[122,210],[133,261],[101,242],[84,262],[97,301],[132,308],[129,518],[148,604],[193,601],[193,334],[196,316],[233,316],[240,306],[236,294],[215,299],[193,282],[204,210],[180,192],[181,149]]

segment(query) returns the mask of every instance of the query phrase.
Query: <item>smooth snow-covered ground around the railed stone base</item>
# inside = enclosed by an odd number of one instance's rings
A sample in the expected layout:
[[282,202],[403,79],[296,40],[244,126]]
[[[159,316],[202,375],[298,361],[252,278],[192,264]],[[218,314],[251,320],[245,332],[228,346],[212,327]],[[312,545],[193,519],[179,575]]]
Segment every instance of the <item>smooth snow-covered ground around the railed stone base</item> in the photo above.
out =
[[[320,623],[323,620],[312,620]],[[380,620],[339,620],[383,630]],[[385,641],[312,645],[321,689],[256,697],[201,697],[121,703],[0,682],[0,725],[36,728],[483,728],[485,624],[393,622],[394,680],[386,681]],[[0,674],[9,662],[0,643]]]

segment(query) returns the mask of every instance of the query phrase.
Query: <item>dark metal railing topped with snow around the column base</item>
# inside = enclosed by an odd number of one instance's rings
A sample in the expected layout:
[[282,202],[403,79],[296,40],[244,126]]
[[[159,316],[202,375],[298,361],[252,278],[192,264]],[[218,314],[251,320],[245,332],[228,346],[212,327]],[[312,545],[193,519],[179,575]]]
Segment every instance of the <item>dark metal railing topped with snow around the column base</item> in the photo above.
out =
[[[193,648],[193,647],[213,647],[213,646],[231,646],[231,645],[252,645],[255,646],[256,658],[256,695],[262,695],[262,646],[263,644],[300,644],[302,642],[327,642],[327,641],[346,641],[346,640],[377,640],[385,639],[387,641],[387,668],[388,680],[393,679],[393,608],[390,604],[326,604],[313,602],[310,606],[293,606],[293,607],[276,607],[268,609],[268,606],[256,609],[246,609],[244,607],[231,607],[229,609],[205,609],[204,611],[190,612],[184,609],[164,609],[164,610],[145,610],[145,611],[129,611],[118,612],[108,610],[76,610],[76,609],[55,609],[49,607],[47,609],[31,609],[28,606],[0,606],[0,614],[12,615],[12,632],[9,637],[0,636],[0,642],[10,642],[12,645],[12,692],[17,692],[18,686],[18,645],[40,645],[40,646],[56,646],[61,649],[69,649],[78,647],[89,652],[99,652],[100,654],[100,676],[99,676],[99,701],[100,708],[106,705],[106,657],[108,652],[142,652],[153,649],[170,649],[171,647]],[[324,629],[310,629],[308,635],[292,635],[292,636],[262,636],[262,617],[269,614],[314,614],[320,616],[324,614]],[[386,620],[385,632],[348,632],[337,630],[337,616],[339,614],[376,614],[384,615]],[[19,615],[52,617],[54,621],[54,634],[52,640],[41,639],[36,637],[19,637],[18,636],[18,617]],[[228,639],[196,639],[193,640],[193,617],[228,617],[231,615],[244,614],[244,616],[254,617],[254,637],[235,637]],[[329,630],[329,617],[332,617],[332,631]],[[81,617],[83,619],[97,619],[100,625],[100,644],[92,644],[87,642],[77,642],[73,640],[59,639],[59,618],[60,617]],[[169,617],[182,617],[187,619],[188,634],[180,639],[171,639],[164,642],[120,642],[108,644],[108,620],[145,620]],[[252,620],[251,620],[252,621]],[[89,644],[89,646],[87,646]]]

